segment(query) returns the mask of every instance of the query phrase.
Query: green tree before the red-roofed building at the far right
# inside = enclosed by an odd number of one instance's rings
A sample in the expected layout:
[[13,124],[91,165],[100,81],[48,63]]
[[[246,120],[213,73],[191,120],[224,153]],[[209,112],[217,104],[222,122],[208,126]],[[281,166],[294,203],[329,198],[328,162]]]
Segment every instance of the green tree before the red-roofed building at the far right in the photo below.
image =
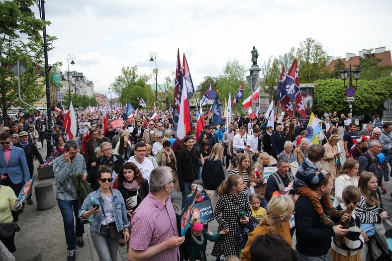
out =
[[374,80],[391,76],[392,67],[380,65],[383,59],[377,58],[376,54],[372,52],[373,49],[365,53],[365,57],[359,57],[359,65],[354,65],[361,70],[361,79]]

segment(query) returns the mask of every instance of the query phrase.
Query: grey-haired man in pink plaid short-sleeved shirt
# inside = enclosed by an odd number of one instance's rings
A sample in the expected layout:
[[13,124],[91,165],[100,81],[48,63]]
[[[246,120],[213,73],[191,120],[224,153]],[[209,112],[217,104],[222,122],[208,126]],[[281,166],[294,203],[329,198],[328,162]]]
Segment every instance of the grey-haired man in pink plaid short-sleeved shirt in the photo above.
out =
[[185,237],[178,236],[176,213],[170,198],[174,182],[176,179],[169,167],[151,172],[150,193],[131,219],[130,261],[180,261],[179,246]]

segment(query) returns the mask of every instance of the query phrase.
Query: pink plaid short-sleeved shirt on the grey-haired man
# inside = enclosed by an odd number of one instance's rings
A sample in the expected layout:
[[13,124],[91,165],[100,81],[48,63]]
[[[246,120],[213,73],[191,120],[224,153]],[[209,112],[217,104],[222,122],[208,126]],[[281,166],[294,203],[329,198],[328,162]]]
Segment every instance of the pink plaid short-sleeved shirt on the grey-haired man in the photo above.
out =
[[[170,196],[166,202],[149,193],[131,219],[131,238],[129,247],[136,251],[144,251],[173,236],[178,236],[176,213]],[[179,248],[167,249],[157,255],[145,259],[147,261],[179,261]]]

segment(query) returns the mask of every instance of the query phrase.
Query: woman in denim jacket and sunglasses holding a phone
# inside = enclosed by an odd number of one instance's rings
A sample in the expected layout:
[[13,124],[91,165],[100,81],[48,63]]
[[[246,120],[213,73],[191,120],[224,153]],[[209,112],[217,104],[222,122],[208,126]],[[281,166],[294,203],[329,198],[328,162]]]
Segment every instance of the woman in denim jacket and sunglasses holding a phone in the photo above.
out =
[[99,188],[89,194],[79,210],[82,221],[94,214],[90,223],[91,239],[101,261],[117,260],[118,240],[121,233],[109,237],[109,231],[124,230],[124,240],[129,240],[129,221],[124,199],[117,189],[111,188],[112,170],[106,166],[98,167]]

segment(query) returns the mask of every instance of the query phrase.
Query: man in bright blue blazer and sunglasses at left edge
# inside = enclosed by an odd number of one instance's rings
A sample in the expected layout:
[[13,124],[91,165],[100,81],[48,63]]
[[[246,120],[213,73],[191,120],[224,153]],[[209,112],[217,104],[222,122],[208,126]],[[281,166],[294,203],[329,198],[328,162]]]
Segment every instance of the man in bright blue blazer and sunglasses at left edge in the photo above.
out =
[[[30,180],[26,156],[23,149],[12,146],[9,133],[0,134],[0,144],[0,183],[19,196],[22,186]],[[12,218],[13,222],[18,221],[19,210],[12,211]]]

